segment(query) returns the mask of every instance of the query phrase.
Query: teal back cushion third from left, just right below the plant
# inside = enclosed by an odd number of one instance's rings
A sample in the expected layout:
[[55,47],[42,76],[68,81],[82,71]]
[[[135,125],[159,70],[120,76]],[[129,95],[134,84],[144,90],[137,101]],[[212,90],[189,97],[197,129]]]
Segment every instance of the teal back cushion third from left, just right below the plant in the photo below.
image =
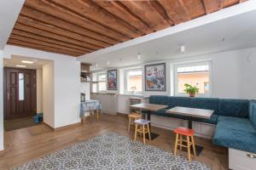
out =
[[219,99],[218,98],[191,98],[190,107],[198,109],[213,110],[214,115],[218,115]]

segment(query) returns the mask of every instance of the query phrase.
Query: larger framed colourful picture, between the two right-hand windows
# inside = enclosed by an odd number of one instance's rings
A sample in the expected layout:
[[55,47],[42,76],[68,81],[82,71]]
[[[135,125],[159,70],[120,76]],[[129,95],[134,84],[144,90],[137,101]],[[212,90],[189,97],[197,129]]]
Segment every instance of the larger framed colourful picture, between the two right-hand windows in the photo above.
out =
[[145,65],[145,91],[166,91],[166,63]]

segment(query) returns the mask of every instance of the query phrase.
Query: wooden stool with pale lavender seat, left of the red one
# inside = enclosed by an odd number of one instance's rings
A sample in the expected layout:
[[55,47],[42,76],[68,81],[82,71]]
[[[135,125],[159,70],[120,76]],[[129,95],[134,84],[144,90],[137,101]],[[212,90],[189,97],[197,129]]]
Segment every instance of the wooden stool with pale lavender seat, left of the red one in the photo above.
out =
[[[135,134],[134,134],[134,140],[137,139],[137,133],[142,134],[143,133],[143,144],[146,143],[145,141],[145,134],[148,133],[148,138],[149,140],[151,140],[151,136],[150,136],[150,130],[149,130],[149,122],[148,120],[145,119],[137,119],[134,123],[135,123]],[[137,126],[140,126],[140,129],[137,128]],[[147,126],[147,128],[145,127]]]

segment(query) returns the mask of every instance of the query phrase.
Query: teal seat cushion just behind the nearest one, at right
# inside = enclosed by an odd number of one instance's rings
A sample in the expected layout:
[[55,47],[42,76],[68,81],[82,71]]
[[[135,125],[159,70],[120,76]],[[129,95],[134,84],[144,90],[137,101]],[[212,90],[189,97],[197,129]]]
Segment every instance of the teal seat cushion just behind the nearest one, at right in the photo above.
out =
[[231,116],[218,116],[218,127],[224,129],[233,129],[242,132],[255,133],[252,122],[248,118],[239,118]]

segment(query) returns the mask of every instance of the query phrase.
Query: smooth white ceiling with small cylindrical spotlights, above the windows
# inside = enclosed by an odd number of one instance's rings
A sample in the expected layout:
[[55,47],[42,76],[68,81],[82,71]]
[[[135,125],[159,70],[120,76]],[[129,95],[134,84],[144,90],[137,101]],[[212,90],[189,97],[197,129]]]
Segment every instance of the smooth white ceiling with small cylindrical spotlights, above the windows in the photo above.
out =
[[[110,50],[108,53],[87,54],[80,57],[79,60],[97,64],[97,69],[102,69],[252,48],[256,47],[255,18],[256,10],[251,10],[165,37]],[[185,46],[185,53],[180,52],[181,45]],[[137,54],[141,54],[141,60],[137,59]],[[109,65],[107,65],[107,61],[109,61]]]

